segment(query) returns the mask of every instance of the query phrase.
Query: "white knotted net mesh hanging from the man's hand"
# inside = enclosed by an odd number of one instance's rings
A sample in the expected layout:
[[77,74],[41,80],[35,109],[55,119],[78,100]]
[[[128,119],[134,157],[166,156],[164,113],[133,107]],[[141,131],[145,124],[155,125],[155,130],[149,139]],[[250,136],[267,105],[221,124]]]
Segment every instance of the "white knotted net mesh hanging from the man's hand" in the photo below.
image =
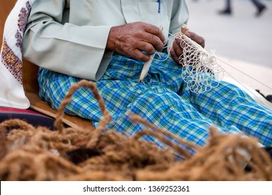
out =
[[224,70],[218,64],[216,56],[206,52],[197,42],[181,33],[183,54],[179,56],[183,65],[182,77],[193,93],[204,93],[218,86],[224,76]]

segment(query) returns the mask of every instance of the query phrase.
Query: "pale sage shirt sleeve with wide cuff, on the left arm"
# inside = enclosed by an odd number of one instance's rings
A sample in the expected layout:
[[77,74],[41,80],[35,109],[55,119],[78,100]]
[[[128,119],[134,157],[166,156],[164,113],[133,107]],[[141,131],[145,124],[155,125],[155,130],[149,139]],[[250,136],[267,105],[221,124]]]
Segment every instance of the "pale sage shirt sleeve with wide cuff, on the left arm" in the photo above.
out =
[[23,56],[40,67],[82,79],[98,80],[112,52],[105,51],[112,26],[77,26],[63,15],[65,0],[36,0],[24,33]]

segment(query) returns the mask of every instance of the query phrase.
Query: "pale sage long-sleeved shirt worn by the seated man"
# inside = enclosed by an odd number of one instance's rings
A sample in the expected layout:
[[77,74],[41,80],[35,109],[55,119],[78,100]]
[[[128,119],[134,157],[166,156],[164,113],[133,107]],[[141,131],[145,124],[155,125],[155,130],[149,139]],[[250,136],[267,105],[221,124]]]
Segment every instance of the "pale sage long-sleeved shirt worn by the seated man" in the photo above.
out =
[[40,67],[98,80],[112,53],[105,51],[112,26],[148,22],[178,33],[188,21],[184,0],[36,0],[24,34],[23,56]]

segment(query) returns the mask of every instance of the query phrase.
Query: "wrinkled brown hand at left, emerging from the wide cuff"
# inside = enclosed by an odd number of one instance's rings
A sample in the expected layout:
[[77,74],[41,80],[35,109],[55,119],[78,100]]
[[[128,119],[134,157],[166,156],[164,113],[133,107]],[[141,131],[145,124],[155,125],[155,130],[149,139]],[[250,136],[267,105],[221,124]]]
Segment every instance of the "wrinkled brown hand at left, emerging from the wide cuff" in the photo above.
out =
[[[113,26],[109,31],[106,48],[146,62],[149,61],[150,55],[163,50],[165,43],[165,36],[157,26],[133,22]],[[142,51],[147,54],[143,54]]]

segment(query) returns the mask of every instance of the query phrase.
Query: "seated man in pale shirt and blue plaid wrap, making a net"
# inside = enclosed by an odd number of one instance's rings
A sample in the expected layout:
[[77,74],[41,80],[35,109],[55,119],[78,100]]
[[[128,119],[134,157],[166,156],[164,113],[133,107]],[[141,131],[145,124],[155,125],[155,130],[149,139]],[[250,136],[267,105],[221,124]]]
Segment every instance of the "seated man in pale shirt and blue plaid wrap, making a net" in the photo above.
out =
[[[181,78],[181,40],[173,40],[171,34],[179,33],[187,22],[183,0],[36,0],[23,54],[42,67],[40,97],[55,109],[72,84],[80,79],[96,81],[113,116],[107,129],[127,137],[143,129],[129,120],[133,112],[199,146],[206,143],[211,125],[221,133],[245,134],[272,145],[272,112],[239,88],[221,82],[211,91],[195,94],[186,86]],[[204,47],[201,36],[188,29],[186,35]],[[162,50],[139,83],[144,62]],[[89,118],[95,126],[102,117],[93,95],[84,88],[75,93],[66,112]],[[164,146],[152,137],[144,139]]]

